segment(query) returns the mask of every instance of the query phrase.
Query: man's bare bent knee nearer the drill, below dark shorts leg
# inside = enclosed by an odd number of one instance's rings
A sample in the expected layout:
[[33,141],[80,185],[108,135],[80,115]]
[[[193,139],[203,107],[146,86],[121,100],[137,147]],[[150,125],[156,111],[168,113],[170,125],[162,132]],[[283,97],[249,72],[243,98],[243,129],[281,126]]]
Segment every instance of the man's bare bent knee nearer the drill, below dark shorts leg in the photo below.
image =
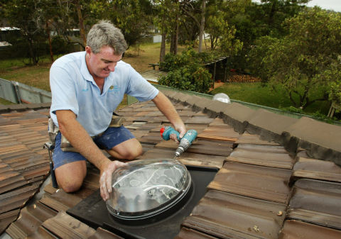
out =
[[142,154],[142,145],[136,138],[131,138],[126,140],[116,146],[111,150],[107,150],[109,155],[115,157],[119,160],[134,160],[136,157]]

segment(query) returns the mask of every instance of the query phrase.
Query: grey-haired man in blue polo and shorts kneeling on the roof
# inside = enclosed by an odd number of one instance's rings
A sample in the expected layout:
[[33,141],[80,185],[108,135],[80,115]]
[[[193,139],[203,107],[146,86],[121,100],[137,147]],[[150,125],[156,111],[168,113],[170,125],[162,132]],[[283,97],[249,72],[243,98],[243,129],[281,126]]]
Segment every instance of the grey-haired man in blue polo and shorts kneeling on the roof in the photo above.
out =
[[[128,129],[109,127],[124,94],[153,101],[180,138],[186,132],[171,101],[121,60],[125,50],[121,30],[109,21],[100,21],[87,35],[85,52],[60,57],[50,68],[50,116],[59,128],[53,165],[58,185],[66,192],[80,189],[88,160],[100,170],[99,187],[105,201],[112,191],[112,173],[124,163],[109,160],[102,150],[119,160],[133,160],[142,154],[141,144]],[[172,136],[176,140],[176,135]],[[72,150],[63,149],[63,144],[60,148],[65,139]]]

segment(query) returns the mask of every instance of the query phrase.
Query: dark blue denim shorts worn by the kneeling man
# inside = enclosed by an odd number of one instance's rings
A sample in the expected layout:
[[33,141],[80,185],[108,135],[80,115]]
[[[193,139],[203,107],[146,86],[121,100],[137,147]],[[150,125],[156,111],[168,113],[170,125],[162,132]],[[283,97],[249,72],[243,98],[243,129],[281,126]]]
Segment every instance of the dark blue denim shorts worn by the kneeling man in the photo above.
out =
[[[110,150],[120,143],[135,138],[134,135],[124,126],[107,128],[101,135],[94,136],[94,143],[101,150]],[[53,150],[53,169],[56,169],[69,162],[87,160],[79,152],[64,152],[60,149],[61,134],[55,137],[55,149]]]

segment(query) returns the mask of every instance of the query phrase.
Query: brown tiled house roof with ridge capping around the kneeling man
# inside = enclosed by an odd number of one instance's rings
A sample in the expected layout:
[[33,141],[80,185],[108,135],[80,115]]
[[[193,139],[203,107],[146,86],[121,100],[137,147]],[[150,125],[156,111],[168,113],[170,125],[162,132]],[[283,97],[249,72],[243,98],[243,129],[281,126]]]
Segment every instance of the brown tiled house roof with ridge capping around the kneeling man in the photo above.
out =
[[[164,93],[198,132],[179,160],[219,170],[177,238],[341,237],[340,126]],[[48,184],[27,206],[48,175],[48,107],[0,107],[0,229],[9,226],[12,238],[121,238],[65,213],[99,189],[97,169],[88,170],[80,191],[66,194]],[[177,145],[159,133],[170,123],[152,102],[117,113],[141,142],[140,159],[173,158]]]

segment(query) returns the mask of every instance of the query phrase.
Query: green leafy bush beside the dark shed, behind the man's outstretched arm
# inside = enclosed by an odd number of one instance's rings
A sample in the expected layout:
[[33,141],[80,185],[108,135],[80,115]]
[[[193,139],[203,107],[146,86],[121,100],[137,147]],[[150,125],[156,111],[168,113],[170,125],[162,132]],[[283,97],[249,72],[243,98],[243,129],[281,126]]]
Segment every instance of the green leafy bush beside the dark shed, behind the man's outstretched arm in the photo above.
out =
[[211,57],[208,53],[197,53],[192,48],[183,51],[181,55],[168,53],[165,61],[160,62],[160,68],[168,71],[168,74],[158,79],[158,84],[207,93],[212,75],[202,67],[202,62]]

